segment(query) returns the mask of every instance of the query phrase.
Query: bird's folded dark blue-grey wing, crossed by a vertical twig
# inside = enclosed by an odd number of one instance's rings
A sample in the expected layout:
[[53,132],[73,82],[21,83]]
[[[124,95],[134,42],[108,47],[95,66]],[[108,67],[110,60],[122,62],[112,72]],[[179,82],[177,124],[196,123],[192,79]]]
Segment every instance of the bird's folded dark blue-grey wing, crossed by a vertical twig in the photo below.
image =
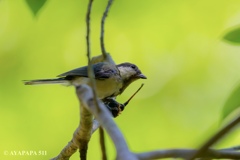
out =
[[[113,74],[118,73],[116,66],[109,65],[108,63],[96,63],[93,65],[93,72],[95,75],[95,79],[107,79],[111,77]],[[57,77],[68,77],[68,76],[80,76],[80,77],[88,77],[88,67],[80,67],[73,69],[71,71],[62,73]]]

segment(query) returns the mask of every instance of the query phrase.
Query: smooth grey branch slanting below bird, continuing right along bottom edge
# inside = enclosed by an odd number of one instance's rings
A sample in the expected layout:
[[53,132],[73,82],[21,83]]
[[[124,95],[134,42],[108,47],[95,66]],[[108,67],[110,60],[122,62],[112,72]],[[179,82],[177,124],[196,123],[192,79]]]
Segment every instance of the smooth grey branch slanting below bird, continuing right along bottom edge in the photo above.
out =
[[[79,86],[77,89],[77,96],[79,101],[83,103],[83,106],[87,107],[88,110],[96,117],[100,124],[105,128],[109,136],[111,137],[116,151],[118,160],[148,160],[148,159],[160,159],[160,158],[184,158],[193,156],[197,153],[195,149],[169,149],[169,150],[156,150],[145,153],[132,153],[128,149],[126,141],[112,119],[111,114],[103,105],[99,103],[100,112],[97,111],[97,107],[93,102],[93,93],[91,88],[87,85]],[[212,159],[240,159],[240,147],[234,147],[229,149],[207,149],[202,155],[196,158],[212,158]]]

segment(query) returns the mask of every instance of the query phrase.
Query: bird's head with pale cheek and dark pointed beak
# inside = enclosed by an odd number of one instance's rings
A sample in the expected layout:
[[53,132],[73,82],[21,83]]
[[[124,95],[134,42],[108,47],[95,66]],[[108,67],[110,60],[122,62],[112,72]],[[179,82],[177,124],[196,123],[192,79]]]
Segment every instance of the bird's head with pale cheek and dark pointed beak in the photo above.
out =
[[125,62],[118,64],[117,68],[123,80],[123,90],[127,88],[127,86],[135,80],[147,79],[147,77],[144,74],[142,74],[140,69],[138,69],[138,67],[135,64]]

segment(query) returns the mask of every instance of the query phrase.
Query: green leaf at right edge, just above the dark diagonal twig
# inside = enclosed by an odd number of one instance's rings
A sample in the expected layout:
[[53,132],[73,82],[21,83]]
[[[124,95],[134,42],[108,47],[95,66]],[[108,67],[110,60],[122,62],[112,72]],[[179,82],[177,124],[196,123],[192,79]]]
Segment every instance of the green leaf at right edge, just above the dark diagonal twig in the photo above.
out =
[[240,85],[233,90],[223,106],[222,119],[236,111],[240,107]]

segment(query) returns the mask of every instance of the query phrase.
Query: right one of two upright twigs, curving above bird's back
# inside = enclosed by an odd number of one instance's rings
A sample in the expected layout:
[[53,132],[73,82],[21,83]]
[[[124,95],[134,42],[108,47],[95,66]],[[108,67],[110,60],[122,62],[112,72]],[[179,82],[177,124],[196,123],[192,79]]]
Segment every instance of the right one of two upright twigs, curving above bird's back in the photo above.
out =
[[108,12],[109,12],[109,8],[111,7],[111,4],[112,4],[113,0],[109,0],[108,1],[108,4],[107,4],[107,7],[103,13],[103,16],[102,16],[102,21],[101,21],[101,35],[100,35],[100,43],[101,43],[101,50],[102,50],[102,55],[103,55],[103,58],[106,59],[107,58],[107,51],[105,49],[105,45],[104,45],[104,24],[105,24],[105,19],[108,15]]

